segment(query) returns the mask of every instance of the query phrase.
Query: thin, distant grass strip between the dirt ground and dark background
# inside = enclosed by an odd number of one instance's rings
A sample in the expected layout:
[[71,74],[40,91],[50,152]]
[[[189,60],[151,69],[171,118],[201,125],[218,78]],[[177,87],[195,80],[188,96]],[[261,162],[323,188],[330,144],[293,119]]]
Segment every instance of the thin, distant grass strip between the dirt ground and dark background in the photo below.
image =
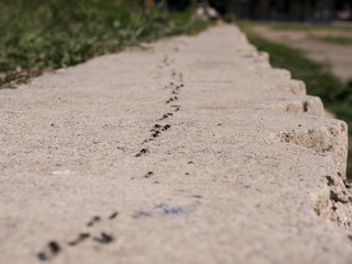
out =
[[267,23],[273,30],[284,31],[352,31],[352,26],[333,24],[311,24],[311,23]]

